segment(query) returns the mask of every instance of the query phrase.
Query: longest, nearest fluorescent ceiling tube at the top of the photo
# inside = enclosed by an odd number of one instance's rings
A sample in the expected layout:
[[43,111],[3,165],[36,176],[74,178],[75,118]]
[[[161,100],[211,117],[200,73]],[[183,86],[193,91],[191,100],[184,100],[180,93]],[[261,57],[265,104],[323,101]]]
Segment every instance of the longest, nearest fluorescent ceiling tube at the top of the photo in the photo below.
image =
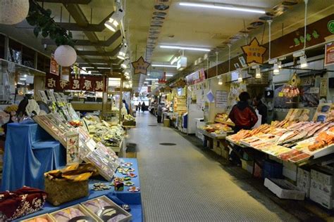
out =
[[180,6],[191,6],[191,7],[199,7],[199,8],[216,8],[216,9],[224,9],[230,11],[243,11],[247,13],[260,13],[264,14],[266,11],[261,9],[255,8],[242,8],[236,7],[231,5],[224,5],[224,4],[199,4],[199,3],[192,3],[192,2],[180,2]]

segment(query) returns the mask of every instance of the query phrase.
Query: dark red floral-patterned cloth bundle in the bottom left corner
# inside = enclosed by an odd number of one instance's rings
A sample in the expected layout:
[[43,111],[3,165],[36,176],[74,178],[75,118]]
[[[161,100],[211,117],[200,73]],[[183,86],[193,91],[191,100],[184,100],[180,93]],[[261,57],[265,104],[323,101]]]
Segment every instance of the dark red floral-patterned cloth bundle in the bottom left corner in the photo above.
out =
[[13,192],[0,192],[0,221],[11,221],[39,211],[47,200],[47,192],[23,187]]

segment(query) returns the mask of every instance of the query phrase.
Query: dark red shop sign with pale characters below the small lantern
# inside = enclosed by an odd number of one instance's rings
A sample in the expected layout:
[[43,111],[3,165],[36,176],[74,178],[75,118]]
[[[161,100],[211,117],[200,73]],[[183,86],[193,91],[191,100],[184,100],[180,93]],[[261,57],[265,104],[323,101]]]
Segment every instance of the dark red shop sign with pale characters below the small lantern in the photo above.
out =
[[104,91],[104,77],[94,75],[70,74],[69,81],[61,79],[54,74],[47,74],[45,87],[54,91],[79,90],[79,91]]

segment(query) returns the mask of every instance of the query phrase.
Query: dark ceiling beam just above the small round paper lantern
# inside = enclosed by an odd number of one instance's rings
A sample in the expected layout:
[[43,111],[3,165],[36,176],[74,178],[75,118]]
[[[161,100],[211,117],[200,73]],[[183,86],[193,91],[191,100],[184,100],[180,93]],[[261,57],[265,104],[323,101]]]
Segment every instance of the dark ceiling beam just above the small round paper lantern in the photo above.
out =
[[[82,39],[73,39],[73,41],[75,42],[75,46],[105,46],[107,47],[107,46],[111,46],[111,44],[113,44],[121,36],[122,34],[120,30],[118,30],[106,41],[91,42],[89,40],[82,40]],[[56,45],[56,43],[52,39],[42,39],[42,44]]]

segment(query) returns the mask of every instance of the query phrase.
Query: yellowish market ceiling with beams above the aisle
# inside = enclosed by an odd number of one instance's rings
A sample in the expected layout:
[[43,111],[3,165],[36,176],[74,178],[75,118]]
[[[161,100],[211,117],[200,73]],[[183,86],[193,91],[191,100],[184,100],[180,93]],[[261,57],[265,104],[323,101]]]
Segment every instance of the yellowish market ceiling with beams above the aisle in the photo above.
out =
[[[267,18],[263,18],[264,14],[180,6],[180,0],[121,0],[125,10],[124,32],[111,32],[104,27],[104,22],[116,9],[114,0],[44,0],[44,3],[42,0],[38,1],[40,6],[51,9],[51,17],[54,17],[59,25],[73,32],[73,39],[78,40],[75,44],[77,61],[92,74],[122,71],[120,69],[122,61],[116,58],[116,54],[120,50],[123,38],[128,41],[131,62],[143,56],[153,64],[170,64],[173,55],[184,53],[187,57],[187,68],[183,74],[189,74],[199,67],[216,65],[217,60],[218,63],[228,60],[228,44],[231,44],[231,56],[234,57],[242,53],[240,46],[251,37],[261,39],[263,44],[268,42],[268,25]],[[213,1],[183,0],[182,2]],[[273,19],[272,40],[304,25],[302,0],[215,0],[214,2],[264,9]],[[161,10],[164,8],[166,10]],[[333,0],[309,0],[307,22],[319,20],[333,11]],[[25,21],[13,26],[0,25],[0,32],[46,55],[52,53],[56,48],[55,44],[50,39],[42,37],[38,37],[36,41],[32,30],[33,27]],[[47,48],[44,48],[44,44],[47,44]],[[206,47],[211,51],[207,53],[208,60],[194,65],[199,58],[203,60],[205,52],[182,52],[178,49],[160,48],[161,44]],[[173,67],[149,67],[148,73],[151,72],[166,72],[167,78],[178,74]],[[140,91],[146,77],[149,76],[143,74],[132,76],[135,91]]]

